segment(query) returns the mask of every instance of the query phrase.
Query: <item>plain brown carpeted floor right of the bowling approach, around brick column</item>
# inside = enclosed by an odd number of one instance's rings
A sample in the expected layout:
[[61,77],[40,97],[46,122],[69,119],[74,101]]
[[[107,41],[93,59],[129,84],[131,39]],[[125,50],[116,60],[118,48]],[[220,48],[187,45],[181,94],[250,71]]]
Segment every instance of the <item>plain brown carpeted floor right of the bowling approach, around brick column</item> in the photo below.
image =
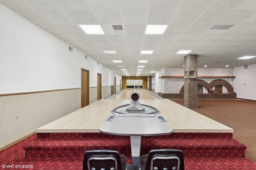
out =
[[[184,106],[184,100],[169,100]],[[233,138],[247,146],[246,156],[256,162],[256,101],[198,99],[192,110],[234,129]]]

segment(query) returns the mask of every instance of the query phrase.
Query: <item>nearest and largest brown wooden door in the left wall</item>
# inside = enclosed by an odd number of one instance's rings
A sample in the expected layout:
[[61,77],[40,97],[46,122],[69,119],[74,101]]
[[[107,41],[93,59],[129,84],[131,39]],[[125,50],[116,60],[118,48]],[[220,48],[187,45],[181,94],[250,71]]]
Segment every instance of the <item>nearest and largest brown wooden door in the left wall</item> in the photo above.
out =
[[89,105],[89,70],[81,69],[81,108]]

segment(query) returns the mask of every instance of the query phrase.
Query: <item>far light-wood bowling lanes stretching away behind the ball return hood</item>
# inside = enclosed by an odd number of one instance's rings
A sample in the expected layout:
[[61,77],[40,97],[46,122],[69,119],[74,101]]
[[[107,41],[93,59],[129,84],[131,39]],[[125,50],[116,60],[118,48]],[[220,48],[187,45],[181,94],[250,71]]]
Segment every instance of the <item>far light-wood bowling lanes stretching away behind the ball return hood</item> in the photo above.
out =
[[[127,88],[126,90],[124,90],[123,92],[121,92],[120,94],[117,94],[116,96],[114,96],[113,98],[111,98],[112,100],[119,100],[119,99],[129,99],[130,98],[130,92],[132,92],[133,88]],[[148,92],[148,90],[144,90],[142,88],[136,88],[135,90],[137,90],[138,92],[140,92],[141,95],[141,99],[157,99],[155,96],[153,96],[152,94],[150,94]]]

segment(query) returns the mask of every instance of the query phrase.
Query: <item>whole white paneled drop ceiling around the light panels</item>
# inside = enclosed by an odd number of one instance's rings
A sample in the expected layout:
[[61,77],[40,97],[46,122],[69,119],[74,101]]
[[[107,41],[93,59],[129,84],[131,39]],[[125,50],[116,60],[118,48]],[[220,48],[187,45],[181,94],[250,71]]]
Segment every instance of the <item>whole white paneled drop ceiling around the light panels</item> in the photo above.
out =
[[[0,0],[0,3],[122,76],[125,74],[121,69],[126,69],[130,76],[136,76],[138,69],[142,69],[140,76],[149,76],[163,67],[182,67],[185,54],[176,54],[180,50],[191,50],[188,54],[198,55],[198,67],[256,63],[256,57],[238,59],[256,56],[256,0]],[[105,34],[87,35],[78,25],[101,25]],[[113,25],[122,29],[113,29]],[[168,27],[163,35],[145,35],[146,25]],[[141,54],[142,50],[153,53]],[[148,62],[139,63],[141,60]]]

